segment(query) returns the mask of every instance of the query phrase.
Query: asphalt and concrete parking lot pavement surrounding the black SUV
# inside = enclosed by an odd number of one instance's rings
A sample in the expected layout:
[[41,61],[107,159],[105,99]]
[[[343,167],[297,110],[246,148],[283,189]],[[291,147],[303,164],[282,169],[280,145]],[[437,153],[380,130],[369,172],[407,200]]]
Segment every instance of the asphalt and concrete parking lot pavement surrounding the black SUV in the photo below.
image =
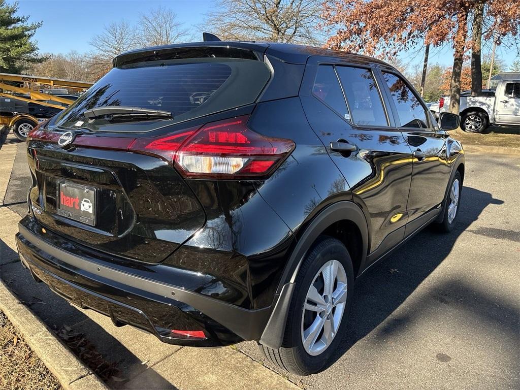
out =
[[[269,367],[253,342],[210,350],[162,344],[136,329],[115,328],[107,318],[77,309],[35,283],[12,246],[17,220],[27,212],[23,202],[29,183],[24,145],[14,142],[10,138],[4,146],[17,152],[5,206],[0,207],[1,277],[51,329],[66,325],[84,334],[114,362],[124,380],[118,387],[176,388],[186,375],[202,375],[203,385],[214,389],[519,386],[518,156],[466,153],[457,229],[449,235],[425,229],[372,269],[356,286],[336,362],[320,374],[300,378]],[[252,360],[239,358],[243,354]],[[252,372],[255,365],[263,369],[253,379],[247,377],[255,382],[232,375],[244,367]],[[200,379],[193,381],[190,388],[204,387]]]

